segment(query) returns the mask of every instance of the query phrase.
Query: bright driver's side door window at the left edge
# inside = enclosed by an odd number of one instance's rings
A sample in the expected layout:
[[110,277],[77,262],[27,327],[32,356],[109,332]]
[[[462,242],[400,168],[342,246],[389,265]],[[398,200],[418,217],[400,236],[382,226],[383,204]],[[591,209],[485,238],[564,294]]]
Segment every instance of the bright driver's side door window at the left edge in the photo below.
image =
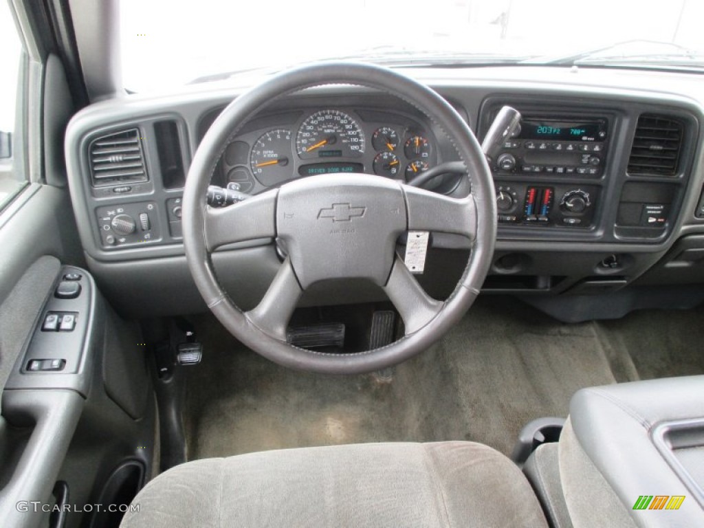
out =
[[0,1],[0,209],[26,184],[15,149],[22,46],[8,2]]

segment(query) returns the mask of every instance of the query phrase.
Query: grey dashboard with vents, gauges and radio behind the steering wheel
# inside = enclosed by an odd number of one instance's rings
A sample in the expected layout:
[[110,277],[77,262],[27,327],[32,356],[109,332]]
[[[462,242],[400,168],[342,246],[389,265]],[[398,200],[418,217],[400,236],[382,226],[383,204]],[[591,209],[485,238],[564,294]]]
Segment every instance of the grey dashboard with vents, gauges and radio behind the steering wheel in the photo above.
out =
[[[470,72],[407,73],[444,96],[479,139],[503,105],[522,114],[520,130],[490,163],[498,241],[484,291],[589,305],[640,284],[704,283],[704,113],[696,75]],[[65,151],[80,236],[89,267],[118,306],[148,315],[202,308],[185,264],[180,201],[199,142],[240,92],[203,85],[127,96],[89,106],[70,123]],[[413,106],[336,85],[291,94],[253,116],[227,144],[212,182],[248,194],[340,172],[408,182],[457,159],[444,132]],[[467,192],[449,174],[427,188]],[[462,237],[432,234],[427,272],[419,277],[430,294],[451,291],[469,250]],[[224,282],[250,306],[278,258],[272,241],[260,240],[222,248],[214,262],[239,268]],[[113,286],[124,277],[135,287]],[[154,285],[163,296],[142,291]],[[357,293],[344,294],[344,302],[373,297]],[[308,303],[327,303],[323,297],[313,293]]]

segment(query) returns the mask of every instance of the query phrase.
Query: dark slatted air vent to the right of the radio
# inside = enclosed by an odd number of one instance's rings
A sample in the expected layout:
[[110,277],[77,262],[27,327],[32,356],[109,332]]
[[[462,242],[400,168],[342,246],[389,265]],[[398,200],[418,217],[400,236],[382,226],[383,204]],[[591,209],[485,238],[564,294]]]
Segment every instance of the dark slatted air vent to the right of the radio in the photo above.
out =
[[679,121],[660,115],[641,115],[628,160],[629,174],[676,175],[682,130]]

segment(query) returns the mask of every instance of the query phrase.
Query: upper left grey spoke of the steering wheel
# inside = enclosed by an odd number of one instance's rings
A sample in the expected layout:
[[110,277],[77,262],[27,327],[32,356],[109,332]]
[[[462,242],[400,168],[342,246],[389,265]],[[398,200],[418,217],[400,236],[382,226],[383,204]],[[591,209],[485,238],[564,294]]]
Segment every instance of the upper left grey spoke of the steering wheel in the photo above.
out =
[[206,244],[208,251],[253,239],[276,237],[276,197],[278,190],[268,191],[224,208],[206,208]]

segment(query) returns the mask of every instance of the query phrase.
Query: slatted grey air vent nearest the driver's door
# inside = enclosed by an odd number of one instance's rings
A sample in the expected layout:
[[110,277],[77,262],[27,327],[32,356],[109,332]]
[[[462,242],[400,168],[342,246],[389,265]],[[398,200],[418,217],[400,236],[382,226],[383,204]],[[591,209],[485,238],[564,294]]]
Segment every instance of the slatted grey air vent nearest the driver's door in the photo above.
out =
[[146,182],[144,152],[139,130],[125,130],[99,137],[90,144],[94,187]]

